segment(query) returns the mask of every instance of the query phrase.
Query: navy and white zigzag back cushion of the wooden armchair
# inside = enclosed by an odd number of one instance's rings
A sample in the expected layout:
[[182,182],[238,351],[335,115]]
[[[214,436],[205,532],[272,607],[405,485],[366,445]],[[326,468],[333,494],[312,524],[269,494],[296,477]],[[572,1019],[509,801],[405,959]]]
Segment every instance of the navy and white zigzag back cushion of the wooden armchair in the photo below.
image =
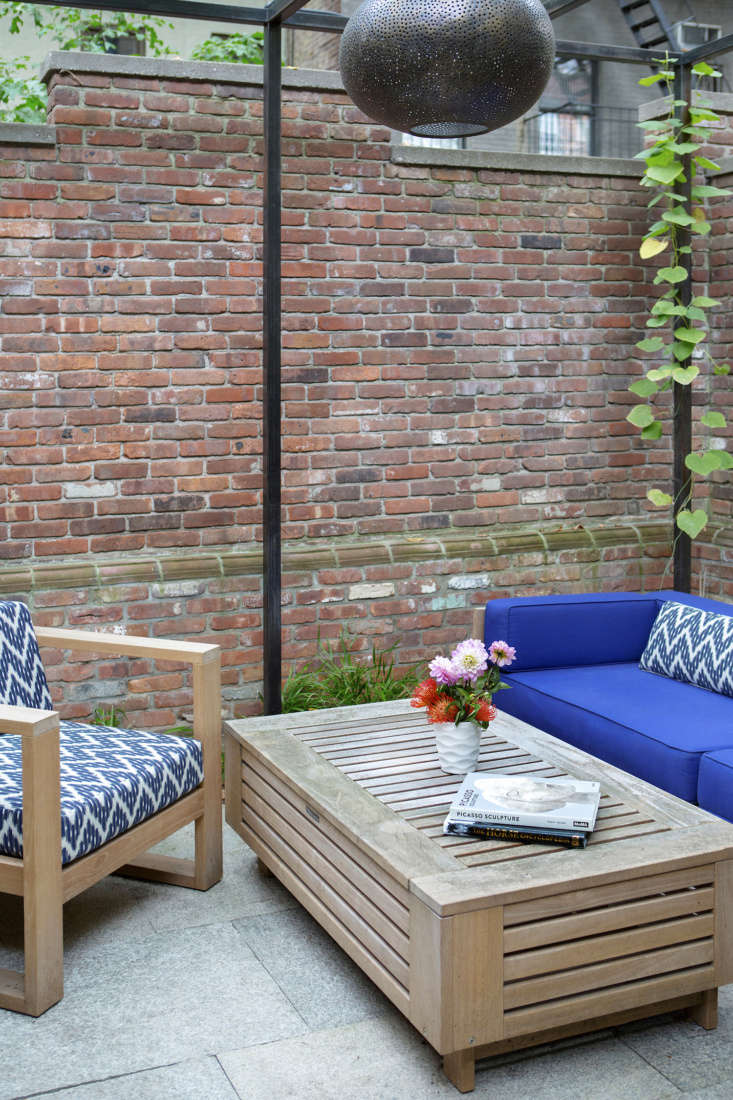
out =
[[53,711],[30,612],[10,601],[0,603],[0,703]]

